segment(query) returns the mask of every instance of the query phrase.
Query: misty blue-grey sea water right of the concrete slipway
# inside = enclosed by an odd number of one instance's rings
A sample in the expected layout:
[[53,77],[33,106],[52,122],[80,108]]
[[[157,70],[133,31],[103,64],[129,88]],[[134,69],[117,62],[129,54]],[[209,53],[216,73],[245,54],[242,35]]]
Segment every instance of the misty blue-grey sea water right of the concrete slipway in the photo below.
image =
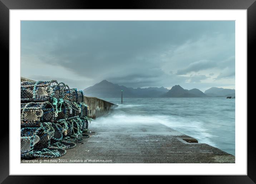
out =
[[106,121],[158,122],[235,155],[235,99],[123,98],[123,103],[121,98],[102,99],[118,105]]

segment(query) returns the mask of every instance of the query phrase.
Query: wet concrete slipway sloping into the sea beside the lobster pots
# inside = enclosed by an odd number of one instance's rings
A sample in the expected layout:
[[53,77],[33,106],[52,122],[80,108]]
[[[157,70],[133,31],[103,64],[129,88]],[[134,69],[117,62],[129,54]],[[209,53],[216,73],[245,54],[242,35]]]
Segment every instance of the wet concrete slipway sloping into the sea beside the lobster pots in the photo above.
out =
[[97,122],[89,125],[94,132],[83,144],[68,149],[63,157],[50,159],[51,162],[61,163],[61,159],[68,163],[235,163],[235,156],[196,143],[195,138],[160,123],[138,122],[131,128],[130,124],[101,126]]

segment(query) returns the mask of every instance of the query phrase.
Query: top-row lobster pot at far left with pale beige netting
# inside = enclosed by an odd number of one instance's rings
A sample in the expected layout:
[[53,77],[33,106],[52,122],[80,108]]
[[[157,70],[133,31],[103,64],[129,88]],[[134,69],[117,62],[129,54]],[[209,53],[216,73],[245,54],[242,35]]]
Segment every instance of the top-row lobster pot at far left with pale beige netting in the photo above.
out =
[[57,81],[21,82],[21,101],[44,102],[53,101],[53,98],[63,98],[66,86]]

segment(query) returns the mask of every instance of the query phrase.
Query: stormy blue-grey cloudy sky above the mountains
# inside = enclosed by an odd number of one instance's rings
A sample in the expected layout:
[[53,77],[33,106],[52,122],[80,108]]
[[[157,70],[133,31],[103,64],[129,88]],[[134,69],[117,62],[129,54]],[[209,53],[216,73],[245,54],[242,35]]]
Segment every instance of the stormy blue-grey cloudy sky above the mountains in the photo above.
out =
[[235,21],[21,21],[21,76],[233,89]]

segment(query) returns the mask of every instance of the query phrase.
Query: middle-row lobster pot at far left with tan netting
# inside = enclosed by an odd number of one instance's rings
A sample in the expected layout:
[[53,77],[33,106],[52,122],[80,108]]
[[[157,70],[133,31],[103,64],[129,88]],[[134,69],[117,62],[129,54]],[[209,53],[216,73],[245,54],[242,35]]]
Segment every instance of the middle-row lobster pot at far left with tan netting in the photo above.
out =
[[21,126],[39,127],[40,122],[54,122],[54,108],[50,102],[21,103]]

